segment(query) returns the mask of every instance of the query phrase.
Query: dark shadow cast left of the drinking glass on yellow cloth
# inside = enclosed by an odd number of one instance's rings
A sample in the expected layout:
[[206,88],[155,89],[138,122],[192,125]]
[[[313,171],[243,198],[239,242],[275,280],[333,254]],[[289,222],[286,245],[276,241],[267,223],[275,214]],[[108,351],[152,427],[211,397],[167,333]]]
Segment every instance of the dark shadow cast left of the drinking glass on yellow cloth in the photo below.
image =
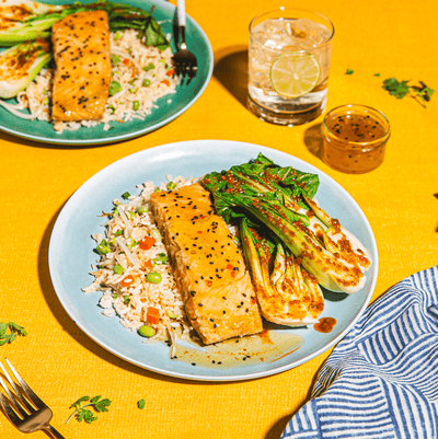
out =
[[247,46],[238,45],[215,53],[214,76],[246,107]]

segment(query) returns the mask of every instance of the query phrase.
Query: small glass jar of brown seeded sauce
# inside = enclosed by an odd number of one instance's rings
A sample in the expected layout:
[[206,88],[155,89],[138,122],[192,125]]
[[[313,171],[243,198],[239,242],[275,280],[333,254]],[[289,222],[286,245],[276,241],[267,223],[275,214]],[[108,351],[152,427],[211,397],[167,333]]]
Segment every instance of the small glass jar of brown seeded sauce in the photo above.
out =
[[336,171],[362,174],[378,167],[391,134],[383,113],[366,105],[342,105],[322,124],[322,160]]

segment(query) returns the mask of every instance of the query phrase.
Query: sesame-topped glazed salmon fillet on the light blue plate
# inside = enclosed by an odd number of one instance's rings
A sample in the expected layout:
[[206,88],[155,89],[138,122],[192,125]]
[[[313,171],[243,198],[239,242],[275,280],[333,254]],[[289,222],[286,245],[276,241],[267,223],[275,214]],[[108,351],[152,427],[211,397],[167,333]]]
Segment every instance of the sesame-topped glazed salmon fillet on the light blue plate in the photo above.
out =
[[151,206],[164,236],[186,314],[205,344],[262,332],[243,256],[199,184],[155,192]]

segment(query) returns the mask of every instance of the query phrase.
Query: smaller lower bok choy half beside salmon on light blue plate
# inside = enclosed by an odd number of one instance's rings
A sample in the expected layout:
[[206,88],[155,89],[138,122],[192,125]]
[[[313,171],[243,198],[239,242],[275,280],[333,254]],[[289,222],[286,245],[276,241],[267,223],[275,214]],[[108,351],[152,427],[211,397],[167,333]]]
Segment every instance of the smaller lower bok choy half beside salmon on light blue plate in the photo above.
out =
[[[269,233],[260,234],[249,219],[240,221],[243,254],[250,267],[262,315],[287,326],[318,323],[324,298],[318,280],[302,269],[301,259]],[[270,268],[272,267],[272,268]]]

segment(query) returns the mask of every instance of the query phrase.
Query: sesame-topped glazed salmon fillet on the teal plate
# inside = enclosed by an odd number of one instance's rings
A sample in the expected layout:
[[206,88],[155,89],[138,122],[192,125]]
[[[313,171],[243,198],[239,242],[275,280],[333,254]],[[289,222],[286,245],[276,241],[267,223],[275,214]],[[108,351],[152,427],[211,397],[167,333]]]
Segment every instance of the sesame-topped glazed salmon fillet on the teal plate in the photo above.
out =
[[85,11],[55,23],[56,70],[51,117],[57,122],[103,117],[111,82],[111,45],[105,11]]

